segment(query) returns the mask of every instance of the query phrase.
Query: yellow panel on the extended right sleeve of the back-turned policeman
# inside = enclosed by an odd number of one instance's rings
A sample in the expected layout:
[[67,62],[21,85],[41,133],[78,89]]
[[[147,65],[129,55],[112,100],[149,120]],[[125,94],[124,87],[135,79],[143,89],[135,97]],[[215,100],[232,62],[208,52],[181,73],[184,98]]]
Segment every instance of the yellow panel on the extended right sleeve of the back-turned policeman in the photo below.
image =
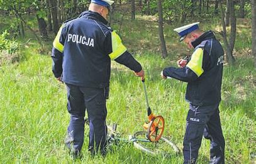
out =
[[126,52],[126,47],[123,45],[120,36],[116,34],[115,31],[111,33],[111,41],[112,41],[112,53],[109,54],[111,60],[114,60],[120,57],[123,53]]

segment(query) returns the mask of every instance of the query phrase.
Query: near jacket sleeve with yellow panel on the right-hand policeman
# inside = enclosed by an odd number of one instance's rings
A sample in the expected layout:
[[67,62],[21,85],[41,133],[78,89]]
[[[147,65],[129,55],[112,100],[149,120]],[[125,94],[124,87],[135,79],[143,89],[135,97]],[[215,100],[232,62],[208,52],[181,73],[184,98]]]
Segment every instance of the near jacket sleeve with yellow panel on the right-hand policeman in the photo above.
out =
[[163,75],[165,77],[172,77],[183,82],[192,82],[198,77],[200,77],[204,69],[206,68],[206,63],[209,61],[209,57],[204,53],[203,48],[197,48],[191,55],[191,60],[187,63],[184,68],[167,67],[163,70]]

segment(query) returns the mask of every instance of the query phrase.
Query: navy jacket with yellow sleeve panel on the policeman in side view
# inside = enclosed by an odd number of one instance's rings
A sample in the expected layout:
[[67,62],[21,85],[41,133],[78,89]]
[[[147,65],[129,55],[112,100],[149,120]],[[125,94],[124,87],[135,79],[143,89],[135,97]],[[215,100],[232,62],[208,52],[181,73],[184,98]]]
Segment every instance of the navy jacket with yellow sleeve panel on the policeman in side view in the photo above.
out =
[[187,82],[186,101],[208,106],[221,101],[223,48],[212,31],[206,31],[192,41],[194,52],[184,68],[167,67],[165,77]]

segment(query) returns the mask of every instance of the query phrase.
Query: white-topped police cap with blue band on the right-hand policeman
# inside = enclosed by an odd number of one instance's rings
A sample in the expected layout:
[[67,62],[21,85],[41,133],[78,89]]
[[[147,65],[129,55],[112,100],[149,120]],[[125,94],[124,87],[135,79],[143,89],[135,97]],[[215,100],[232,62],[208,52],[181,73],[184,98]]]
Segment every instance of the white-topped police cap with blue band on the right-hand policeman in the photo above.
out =
[[179,41],[184,40],[184,38],[186,38],[187,34],[191,33],[194,30],[199,29],[199,26],[198,26],[199,23],[200,22],[196,22],[196,23],[192,23],[192,24],[189,24],[186,26],[175,28],[174,31],[176,31],[179,34],[179,36],[181,37],[179,39]]

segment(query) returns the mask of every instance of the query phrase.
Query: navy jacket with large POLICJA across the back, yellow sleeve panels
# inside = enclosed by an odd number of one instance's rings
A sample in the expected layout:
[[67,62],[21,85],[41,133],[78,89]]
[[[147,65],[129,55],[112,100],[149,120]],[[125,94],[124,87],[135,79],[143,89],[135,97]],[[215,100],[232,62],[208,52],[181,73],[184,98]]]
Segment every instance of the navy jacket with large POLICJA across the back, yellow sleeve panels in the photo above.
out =
[[84,11],[60,27],[52,48],[55,77],[66,84],[103,88],[109,86],[111,60],[135,72],[142,70],[107,24],[100,14]]

